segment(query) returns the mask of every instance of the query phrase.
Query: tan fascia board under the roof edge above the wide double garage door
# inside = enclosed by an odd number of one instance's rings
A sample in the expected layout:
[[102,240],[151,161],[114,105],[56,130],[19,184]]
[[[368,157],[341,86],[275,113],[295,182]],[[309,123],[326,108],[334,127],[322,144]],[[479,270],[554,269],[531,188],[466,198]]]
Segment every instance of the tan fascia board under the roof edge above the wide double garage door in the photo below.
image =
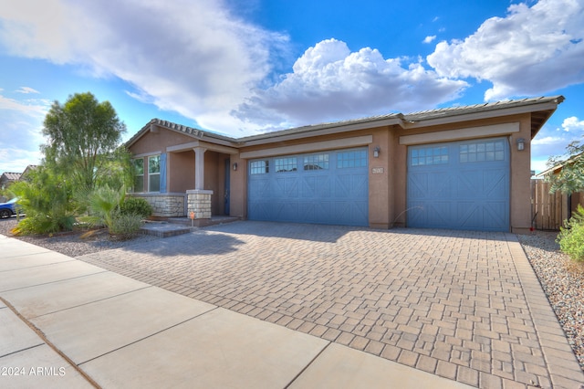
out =
[[[331,126],[320,130],[306,130],[306,131],[297,131],[297,132],[287,132],[283,131],[281,135],[270,135],[269,132],[262,135],[256,135],[257,137],[253,140],[245,141],[245,138],[241,140],[243,143],[242,146],[255,146],[260,144],[266,143],[275,143],[275,142],[285,142],[285,141],[296,141],[298,139],[304,139],[308,137],[314,136],[321,136],[321,135],[330,135],[342,132],[349,132],[349,131],[359,131],[359,130],[367,130],[367,129],[374,129],[379,127],[391,126],[398,124],[403,126],[403,122],[399,118],[391,118],[391,119],[384,119],[381,121],[365,121],[362,123],[351,123],[346,125],[337,125]],[[265,137],[264,137],[265,136]]]

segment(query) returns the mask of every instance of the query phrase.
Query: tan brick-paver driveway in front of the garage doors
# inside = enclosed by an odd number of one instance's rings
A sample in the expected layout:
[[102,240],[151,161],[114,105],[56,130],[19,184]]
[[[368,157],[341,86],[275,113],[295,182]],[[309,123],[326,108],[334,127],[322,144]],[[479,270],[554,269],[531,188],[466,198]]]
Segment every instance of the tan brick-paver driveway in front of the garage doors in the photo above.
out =
[[465,384],[582,381],[511,234],[236,222],[80,259]]

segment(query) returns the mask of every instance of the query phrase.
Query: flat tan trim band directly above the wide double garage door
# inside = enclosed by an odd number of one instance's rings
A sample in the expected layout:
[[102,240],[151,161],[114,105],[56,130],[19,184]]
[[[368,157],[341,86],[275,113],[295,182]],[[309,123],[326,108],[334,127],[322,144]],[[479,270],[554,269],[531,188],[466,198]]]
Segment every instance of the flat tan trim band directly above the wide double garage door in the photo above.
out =
[[365,146],[373,142],[372,135],[355,136],[352,138],[335,139],[324,142],[310,142],[296,144],[294,146],[274,147],[271,149],[255,150],[253,152],[241,152],[242,159],[266,158],[276,155],[287,155],[305,152],[320,152],[323,150],[335,150],[348,147]]

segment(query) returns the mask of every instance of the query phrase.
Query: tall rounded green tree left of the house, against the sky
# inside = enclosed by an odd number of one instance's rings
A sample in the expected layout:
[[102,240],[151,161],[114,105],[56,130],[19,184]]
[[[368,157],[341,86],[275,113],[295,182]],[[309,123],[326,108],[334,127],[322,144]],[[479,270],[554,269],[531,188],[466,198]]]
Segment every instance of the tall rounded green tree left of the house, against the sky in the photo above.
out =
[[99,102],[90,92],[69,96],[65,104],[55,101],[44,122],[45,163],[66,173],[79,189],[93,190],[100,179],[111,184],[112,162],[125,131],[110,102]]

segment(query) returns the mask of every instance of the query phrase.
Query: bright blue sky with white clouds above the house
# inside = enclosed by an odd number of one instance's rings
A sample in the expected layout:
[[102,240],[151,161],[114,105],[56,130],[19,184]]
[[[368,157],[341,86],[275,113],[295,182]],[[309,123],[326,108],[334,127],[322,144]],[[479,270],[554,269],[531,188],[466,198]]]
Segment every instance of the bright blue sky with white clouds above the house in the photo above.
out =
[[239,137],[564,95],[532,169],[584,134],[584,0],[20,0],[0,3],[0,173],[40,160],[77,92],[128,127]]

